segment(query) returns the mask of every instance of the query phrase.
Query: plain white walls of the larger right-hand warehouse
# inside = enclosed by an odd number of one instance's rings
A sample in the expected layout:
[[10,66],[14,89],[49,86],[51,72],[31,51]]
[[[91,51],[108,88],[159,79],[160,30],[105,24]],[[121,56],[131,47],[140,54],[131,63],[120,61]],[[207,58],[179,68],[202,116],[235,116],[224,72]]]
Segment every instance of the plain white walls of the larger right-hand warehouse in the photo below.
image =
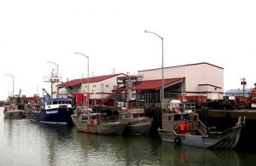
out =
[[[143,80],[161,79],[162,70],[153,69],[138,71],[143,75]],[[184,66],[172,66],[164,69],[164,78],[185,77],[185,90],[189,95],[207,95],[209,99],[224,93],[224,69],[208,63],[190,64]],[[209,84],[199,86],[199,84]],[[215,89],[215,87],[219,87]],[[203,93],[204,92],[204,93]],[[208,94],[210,93],[210,94]],[[211,94],[213,93],[213,94]]]

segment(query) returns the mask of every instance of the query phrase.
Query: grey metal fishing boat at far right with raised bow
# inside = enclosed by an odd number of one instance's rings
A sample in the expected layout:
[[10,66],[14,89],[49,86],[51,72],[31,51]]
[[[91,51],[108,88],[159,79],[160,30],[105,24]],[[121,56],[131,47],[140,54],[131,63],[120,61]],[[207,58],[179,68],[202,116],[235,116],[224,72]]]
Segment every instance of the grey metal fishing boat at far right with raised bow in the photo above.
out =
[[169,112],[162,114],[162,129],[158,129],[161,140],[176,145],[198,146],[212,149],[233,149],[239,139],[245,117],[239,117],[234,127],[221,132],[211,132],[201,122],[195,105],[171,101]]

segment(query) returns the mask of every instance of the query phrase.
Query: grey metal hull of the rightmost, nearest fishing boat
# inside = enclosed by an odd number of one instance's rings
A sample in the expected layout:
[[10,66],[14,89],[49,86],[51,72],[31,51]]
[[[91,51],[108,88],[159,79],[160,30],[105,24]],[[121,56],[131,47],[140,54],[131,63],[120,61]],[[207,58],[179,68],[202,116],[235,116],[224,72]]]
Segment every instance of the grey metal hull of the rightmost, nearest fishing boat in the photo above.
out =
[[161,140],[176,145],[207,147],[212,149],[233,149],[238,143],[241,126],[212,135],[177,135],[172,130],[158,129]]

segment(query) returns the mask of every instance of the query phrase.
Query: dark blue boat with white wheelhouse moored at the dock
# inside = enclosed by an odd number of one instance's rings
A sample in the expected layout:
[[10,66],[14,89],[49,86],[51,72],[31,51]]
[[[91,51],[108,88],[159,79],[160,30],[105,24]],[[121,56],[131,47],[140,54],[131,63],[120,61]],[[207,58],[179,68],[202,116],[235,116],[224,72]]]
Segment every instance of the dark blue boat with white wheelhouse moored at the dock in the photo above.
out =
[[72,123],[73,100],[69,98],[50,99],[39,111],[31,112],[31,120],[40,123],[67,124]]

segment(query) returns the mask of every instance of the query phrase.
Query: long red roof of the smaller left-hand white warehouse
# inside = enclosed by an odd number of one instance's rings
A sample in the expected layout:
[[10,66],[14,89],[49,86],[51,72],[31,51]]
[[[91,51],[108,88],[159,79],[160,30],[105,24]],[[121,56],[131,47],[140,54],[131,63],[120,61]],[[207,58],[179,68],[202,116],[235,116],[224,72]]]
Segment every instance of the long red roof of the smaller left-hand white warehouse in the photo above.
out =
[[[97,77],[89,77],[89,83],[101,82],[101,81],[106,80],[108,78],[119,76],[121,74],[123,74],[123,73],[111,74],[111,75],[105,75],[105,76],[97,76]],[[88,78],[85,77],[85,78],[73,79],[73,80],[68,81],[66,83],[61,83],[58,86],[60,86],[60,87],[64,87],[64,86],[73,87],[73,86],[79,85],[81,83],[87,83],[87,82],[88,82]]]

